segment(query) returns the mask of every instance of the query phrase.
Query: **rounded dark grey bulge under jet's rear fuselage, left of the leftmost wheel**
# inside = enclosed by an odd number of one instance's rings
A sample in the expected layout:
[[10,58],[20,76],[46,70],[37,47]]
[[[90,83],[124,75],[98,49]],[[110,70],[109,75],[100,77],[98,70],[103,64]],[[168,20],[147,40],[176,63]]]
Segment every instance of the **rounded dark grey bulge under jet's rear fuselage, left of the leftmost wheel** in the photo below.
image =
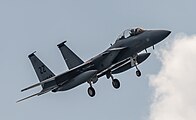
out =
[[65,90],[72,89],[92,79],[96,74],[97,74],[97,70],[89,70],[89,71],[83,72],[79,74],[78,76],[76,76],[75,78],[69,80],[63,86],[59,87],[58,91],[65,91]]

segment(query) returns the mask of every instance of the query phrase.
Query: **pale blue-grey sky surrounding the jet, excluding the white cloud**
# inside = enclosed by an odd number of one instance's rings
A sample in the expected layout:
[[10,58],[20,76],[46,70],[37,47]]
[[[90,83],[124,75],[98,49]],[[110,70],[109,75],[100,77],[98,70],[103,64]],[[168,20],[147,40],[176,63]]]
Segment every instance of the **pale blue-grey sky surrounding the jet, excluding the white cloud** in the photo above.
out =
[[[159,73],[157,50],[177,33],[195,34],[194,0],[1,0],[0,1],[0,119],[5,120],[148,120],[153,102],[149,76]],[[48,93],[16,104],[41,88],[20,93],[38,79],[27,56],[33,51],[56,74],[68,70],[57,48],[66,43],[83,60],[95,56],[132,27],[168,29],[172,34],[155,46],[139,68],[115,75],[115,90],[105,77],[94,85],[96,96],[87,94],[88,84],[61,93]]]

